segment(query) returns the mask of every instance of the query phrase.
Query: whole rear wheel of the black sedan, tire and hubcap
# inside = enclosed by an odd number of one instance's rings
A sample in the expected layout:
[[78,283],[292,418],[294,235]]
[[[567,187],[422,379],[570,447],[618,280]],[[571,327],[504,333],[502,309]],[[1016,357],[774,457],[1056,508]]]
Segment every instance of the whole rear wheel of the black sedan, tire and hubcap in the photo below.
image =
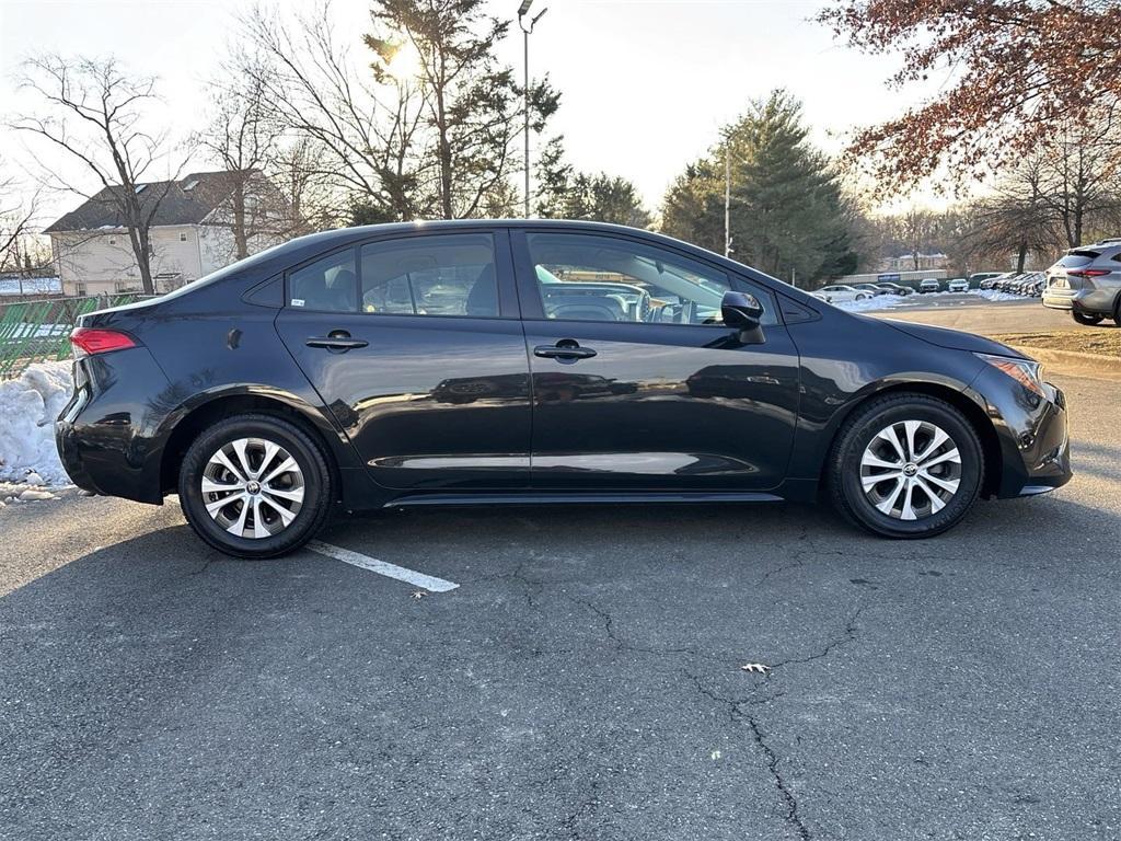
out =
[[299,427],[269,415],[221,420],[187,450],[179,505],[195,533],[235,557],[287,554],[323,527],[331,471]]

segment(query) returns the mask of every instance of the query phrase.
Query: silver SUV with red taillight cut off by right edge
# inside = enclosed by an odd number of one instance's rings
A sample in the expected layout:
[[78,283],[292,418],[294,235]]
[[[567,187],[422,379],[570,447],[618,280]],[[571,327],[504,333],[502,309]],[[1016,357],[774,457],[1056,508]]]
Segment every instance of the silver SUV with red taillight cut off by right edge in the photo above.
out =
[[1080,324],[1121,324],[1121,238],[1072,248],[1046,276],[1044,306],[1067,309]]

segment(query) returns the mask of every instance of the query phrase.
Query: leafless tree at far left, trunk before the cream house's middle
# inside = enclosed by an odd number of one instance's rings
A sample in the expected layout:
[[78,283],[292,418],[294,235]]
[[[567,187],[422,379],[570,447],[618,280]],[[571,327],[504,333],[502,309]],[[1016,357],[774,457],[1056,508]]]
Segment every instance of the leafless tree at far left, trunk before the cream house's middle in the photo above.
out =
[[[101,185],[94,196],[73,183],[61,183],[62,188],[96,197],[115,212],[128,231],[143,290],[155,293],[150,228],[174,184],[165,179],[150,190],[142,186],[170,151],[166,131],[152,133],[145,127],[145,109],[157,99],[156,80],[130,77],[113,58],[46,55],[25,62],[24,71],[21,87],[37,94],[43,111],[17,118],[12,128],[64,153]],[[44,170],[61,181],[56,168]]]

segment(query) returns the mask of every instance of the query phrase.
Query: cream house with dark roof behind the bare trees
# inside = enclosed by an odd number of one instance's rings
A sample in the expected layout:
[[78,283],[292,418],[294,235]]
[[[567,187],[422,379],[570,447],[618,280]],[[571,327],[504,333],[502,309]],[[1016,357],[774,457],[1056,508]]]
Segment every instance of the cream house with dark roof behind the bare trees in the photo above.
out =
[[[239,191],[239,184],[244,188]],[[141,290],[129,232],[113,201],[114,192],[121,190],[105,187],[45,231],[67,295]],[[249,253],[281,242],[293,232],[278,191],[257,172],[192,173],[136,190],[142,211],[155,207],[149,237],[152,280],[159,293],[233,262],[234,219],[242,220]],[[239,194],[243,201],[235,200]]]

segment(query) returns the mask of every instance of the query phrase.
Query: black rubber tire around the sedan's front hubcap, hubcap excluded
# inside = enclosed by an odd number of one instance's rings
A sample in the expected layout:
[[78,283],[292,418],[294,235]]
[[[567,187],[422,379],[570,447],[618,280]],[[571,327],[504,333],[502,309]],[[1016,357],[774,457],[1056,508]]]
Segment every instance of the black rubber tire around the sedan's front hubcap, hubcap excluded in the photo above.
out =
[[[961,464],[957,489],[944,508],[918,519],[905,520],[883,514],[861,484],[861,459],[881,429],[904,420],[934,424],[951,438]],[[935,470],[935,468],[932,468]],[[874,398],[858,407],[837,432],[830,454],[826,482],[833,506],[850,521],[880,535],[902,539],[933,537],[955,526],[972,508],[984,480],[984,455],[973,425],[944,400],[929,395],[897,392]],[[919,492],[925,498],[925,495]]]

